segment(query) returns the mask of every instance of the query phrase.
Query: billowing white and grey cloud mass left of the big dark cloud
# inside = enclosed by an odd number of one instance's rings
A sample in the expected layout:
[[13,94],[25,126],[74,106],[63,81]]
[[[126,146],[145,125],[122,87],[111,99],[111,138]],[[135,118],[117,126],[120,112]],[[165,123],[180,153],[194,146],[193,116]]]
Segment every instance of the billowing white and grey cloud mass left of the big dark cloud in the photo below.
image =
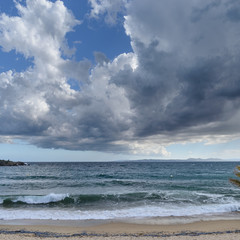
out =
[[[128,134],[129,102],[110,79],[125,64],[131,65],[132,54],[108,62],[96,53],[99,64],[89,75],[89,61],[63,56],[66,33],[80,22],[61,1],[16,6],[19,16],[1,16],[0,44],[5,51],[32,58],[34,65],[0,75],[0,134],[46,148],[126,151],[112,142]],[[70,80],[77,89],[71,88]]]

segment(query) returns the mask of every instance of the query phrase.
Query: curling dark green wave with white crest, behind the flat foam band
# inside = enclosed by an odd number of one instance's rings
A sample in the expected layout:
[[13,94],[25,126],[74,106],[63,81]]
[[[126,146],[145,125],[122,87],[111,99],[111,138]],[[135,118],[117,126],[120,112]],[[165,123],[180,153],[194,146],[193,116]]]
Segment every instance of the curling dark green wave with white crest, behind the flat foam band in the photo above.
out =
[[209,205],[229,204],[238,202],[233,196],[221,194],[209,194],[188,191],[161,191],[161,192],[130,192],[122,194],[55,194],[43,196],[0,196],[0,206],[17,207],[19,205],[52,205],[52,206],[95,206],[103,205],[127,206],[153,205],[153,204],[174,204],[174,205]]

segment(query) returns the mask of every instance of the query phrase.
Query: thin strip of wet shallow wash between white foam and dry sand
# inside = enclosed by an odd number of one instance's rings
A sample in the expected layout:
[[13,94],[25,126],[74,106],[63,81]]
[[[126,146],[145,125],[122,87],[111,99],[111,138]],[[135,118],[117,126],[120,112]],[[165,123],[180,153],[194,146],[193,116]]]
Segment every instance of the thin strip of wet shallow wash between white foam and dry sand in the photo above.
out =
[[[1,217],[1,216],[0,216]],[[0,226],[3,225],[51,225],[65,227],[91,227],[96,225],[106,225],[109,223],[125,223],[136,225],[160,225],[160,226],[176,226],[187,225],[196,222],[214,222],[214,221],[240,221],[240,211],[216,214],[196,214],[191,216],[158,216],[158,217],[128,217],[128,218],[89,218],[89,219],[0,219]]]

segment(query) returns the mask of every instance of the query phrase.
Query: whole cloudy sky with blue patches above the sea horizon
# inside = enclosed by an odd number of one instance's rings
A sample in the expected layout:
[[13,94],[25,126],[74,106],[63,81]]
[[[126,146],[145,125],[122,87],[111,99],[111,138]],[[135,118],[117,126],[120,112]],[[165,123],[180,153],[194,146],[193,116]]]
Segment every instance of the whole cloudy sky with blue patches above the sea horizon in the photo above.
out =
[[0,3],[0,158],[240,156],[238,0]]

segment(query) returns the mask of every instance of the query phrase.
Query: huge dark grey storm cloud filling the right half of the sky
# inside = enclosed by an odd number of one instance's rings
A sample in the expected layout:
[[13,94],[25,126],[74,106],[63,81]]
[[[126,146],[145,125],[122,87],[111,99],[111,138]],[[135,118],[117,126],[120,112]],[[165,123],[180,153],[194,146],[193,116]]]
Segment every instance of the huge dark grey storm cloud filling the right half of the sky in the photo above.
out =
[[[226,7],[227,6],[227,7]],[[114,82],[128,93],[136,137],[239,129],[239,25],[236,1],[132,1],[125,17],[136,71]],[[144,20],[143,20],[144,19]],[[173,139],[173,138],[172,138]]]

